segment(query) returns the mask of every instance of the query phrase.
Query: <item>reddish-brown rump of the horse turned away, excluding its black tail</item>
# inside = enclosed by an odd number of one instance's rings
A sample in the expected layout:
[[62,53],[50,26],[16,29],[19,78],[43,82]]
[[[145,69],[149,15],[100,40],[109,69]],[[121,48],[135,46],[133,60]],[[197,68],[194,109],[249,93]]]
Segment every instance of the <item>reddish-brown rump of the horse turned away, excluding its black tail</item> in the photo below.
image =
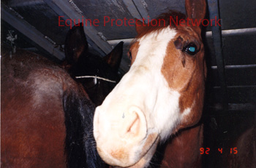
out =
[[[66,167],[65,115],[92,118],[94,105],[44,57],[23,50],[10,57],[4,47],[1,55],[1,166]],[[83,123],[78,127],[91,130]]]

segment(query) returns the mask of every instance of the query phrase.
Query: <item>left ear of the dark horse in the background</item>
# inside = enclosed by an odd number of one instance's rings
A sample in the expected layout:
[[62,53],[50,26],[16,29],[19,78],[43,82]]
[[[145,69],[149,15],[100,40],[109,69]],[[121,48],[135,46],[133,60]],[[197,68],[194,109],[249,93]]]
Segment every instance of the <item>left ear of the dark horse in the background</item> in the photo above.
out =
[[68,31],[65,40],[65,57],[66,65],[72,66],[78,61],[80,55],[88,50],[86,34],[83,31],[81,24],[75,25]]

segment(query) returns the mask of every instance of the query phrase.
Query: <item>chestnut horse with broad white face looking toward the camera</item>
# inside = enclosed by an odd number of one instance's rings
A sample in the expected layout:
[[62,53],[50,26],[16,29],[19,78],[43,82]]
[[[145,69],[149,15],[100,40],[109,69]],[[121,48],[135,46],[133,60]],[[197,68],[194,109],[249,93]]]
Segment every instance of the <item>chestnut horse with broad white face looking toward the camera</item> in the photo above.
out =
[[192,23],[203,20],[206,1],[186,0],[186,10],[161,15],[159,26],[137,22],[132,66],[94,114],[97,151],[110,165],[146,167],[157,144],[175,135],[163,167],[200,167],[206,63]]

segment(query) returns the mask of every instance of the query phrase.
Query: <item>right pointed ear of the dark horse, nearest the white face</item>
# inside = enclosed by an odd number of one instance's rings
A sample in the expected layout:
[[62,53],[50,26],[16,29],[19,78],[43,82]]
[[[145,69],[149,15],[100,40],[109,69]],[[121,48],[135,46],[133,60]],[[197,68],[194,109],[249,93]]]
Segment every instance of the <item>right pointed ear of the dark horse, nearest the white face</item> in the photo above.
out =
[[123,45],[124,42],[119,42],[116,47],[105,57],[103,57],[103,60],[105,60],[108,65],[114,70],[118,71],[119,65],[121,63],[121,57],[123,55]]

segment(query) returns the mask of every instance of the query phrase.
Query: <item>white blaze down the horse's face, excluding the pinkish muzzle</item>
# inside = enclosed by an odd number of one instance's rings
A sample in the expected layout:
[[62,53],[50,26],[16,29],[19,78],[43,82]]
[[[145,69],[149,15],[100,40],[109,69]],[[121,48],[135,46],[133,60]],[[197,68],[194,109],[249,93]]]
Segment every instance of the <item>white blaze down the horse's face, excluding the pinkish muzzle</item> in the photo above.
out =
[[[138,39],[139,49],[135,62],[98,107],[105,113],[104,120],[108,120],[110,112],[116,113],[115,118],[121,121],[121,117],[127,113],[126,110],[133,105],[139,107],[146,116],[148,131],[159,133],[162,140],[170,135],[181,120],[178,107],[180,94],[168,86],[161,70],[167,45],[174,36],[176,31],[167,27]],[[110,119],[112,129],[118,127],[116,119]],[[100,123],[106,129],[110,127],[110,124],[103,119]],[[96,138],[98,133],[94,132]],[[102,131],[102,133],[110,132]]]

